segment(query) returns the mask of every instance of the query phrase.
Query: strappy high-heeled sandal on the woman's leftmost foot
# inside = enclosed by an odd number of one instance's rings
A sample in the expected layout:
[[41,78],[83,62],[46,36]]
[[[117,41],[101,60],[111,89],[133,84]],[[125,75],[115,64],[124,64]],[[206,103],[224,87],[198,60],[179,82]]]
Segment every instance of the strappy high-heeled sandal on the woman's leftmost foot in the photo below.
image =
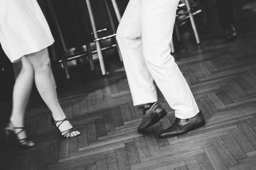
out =
[[[20,131],[16,132],[15,129],[20,129]],[[19,134],[25,131],[25,127],[13,127],[13,129],[5,128],[4,131],[6,132],[6,134],[13,134],[17,145],[22,148],[30,148],[32,146],[35,146],[35,143],[28,138],[19,138]]]

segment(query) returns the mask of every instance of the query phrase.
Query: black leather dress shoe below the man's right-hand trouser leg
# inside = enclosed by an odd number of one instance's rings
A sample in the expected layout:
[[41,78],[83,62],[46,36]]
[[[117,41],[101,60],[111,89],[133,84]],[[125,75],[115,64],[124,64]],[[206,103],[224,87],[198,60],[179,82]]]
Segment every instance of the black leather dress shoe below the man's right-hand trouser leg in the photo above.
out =
[[165,129],[159,133],[159,138],[169,138],[178,136],[180,134],[185,134],[189,131],[192,131],[193,129],[202,127],[203,125],[205,125],[205,120],[201,111],[193,118],[176,118],[175,122],[170,127],[168,127],[168,129]]

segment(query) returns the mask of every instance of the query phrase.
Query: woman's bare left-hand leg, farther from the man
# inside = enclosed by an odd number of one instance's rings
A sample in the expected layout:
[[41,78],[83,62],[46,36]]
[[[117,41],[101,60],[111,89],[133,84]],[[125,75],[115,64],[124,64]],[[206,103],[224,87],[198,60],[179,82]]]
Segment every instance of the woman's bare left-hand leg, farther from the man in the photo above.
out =
[[[10,122],[14,127],[24,127],[24,113],[34,80],[34,70],[29,60],[26,57],[22,57],[21,63],[22,69],[13,88],[13,108]],[[19,131],[17,129],[17,132]],[[20,133],[19,138],[26,138],[26,132]]]

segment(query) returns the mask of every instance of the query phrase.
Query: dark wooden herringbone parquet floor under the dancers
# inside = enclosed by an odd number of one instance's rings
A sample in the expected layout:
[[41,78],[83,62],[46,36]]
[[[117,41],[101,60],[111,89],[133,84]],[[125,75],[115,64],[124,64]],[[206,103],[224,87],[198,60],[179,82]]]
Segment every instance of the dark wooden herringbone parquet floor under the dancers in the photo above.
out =
[[256,32],[236,41],[209,39],[176,54],[207,124],[182,136],[158,139],[174,112],[147,134],[138,134],[141,115],[132,106],[124,69],[93,81],[60,103],[79,138],[63,139],[51,127],[45,106],[28,111],[36,146],[6,146],[0,169],[256,169]]

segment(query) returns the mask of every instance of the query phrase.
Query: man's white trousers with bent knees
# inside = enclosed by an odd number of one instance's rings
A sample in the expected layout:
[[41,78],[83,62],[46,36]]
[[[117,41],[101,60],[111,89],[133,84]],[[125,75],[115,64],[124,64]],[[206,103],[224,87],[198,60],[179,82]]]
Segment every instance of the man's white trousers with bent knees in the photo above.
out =
[[179,0],[130,0],[116,38],[124,58],[134,106],[157,101],[156,87],[177,118],[199,112],[188,83],[172,55],[170,42]]

